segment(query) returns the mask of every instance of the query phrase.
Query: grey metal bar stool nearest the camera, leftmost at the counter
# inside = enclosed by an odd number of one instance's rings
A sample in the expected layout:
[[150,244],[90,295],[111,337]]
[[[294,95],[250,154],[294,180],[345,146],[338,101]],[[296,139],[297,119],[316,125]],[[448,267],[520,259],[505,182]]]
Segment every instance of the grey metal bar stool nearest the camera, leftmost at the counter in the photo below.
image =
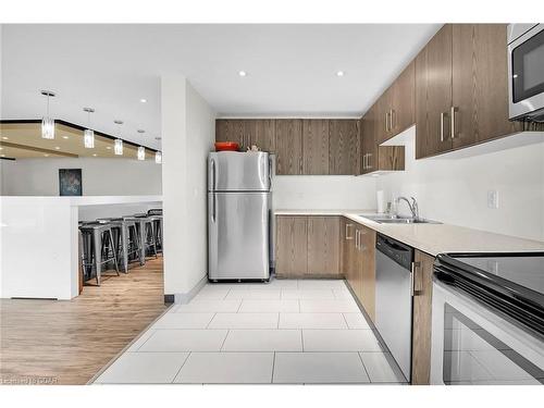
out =
[[83,269],[87,279],[90,279],[95,268],[97,285],[102,281],[102,264],[113,261],[119,276],[119,264],[115,243],[110,223],[86,223],[79,226],[83,237]]

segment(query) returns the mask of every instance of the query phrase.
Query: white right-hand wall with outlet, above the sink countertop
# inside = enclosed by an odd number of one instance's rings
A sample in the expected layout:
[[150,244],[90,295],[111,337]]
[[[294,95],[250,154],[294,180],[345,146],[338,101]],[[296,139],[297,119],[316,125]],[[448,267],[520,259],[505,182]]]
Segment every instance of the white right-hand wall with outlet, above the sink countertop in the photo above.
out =
[[[378,178],[385,197],[415,196],[424,218],[544,240],[544,144],[416,161],[415,127],[405,136],[406,171]],[[498,209],[487,208],[487,190],[498,191]]]

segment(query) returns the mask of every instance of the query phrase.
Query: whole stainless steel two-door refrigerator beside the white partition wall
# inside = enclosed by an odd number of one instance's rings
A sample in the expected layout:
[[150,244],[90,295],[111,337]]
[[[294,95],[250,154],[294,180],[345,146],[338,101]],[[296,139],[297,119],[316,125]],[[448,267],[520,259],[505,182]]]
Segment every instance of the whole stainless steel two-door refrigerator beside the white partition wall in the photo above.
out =
[[208,276],[269,280],[271,173],[267,152],[208,157]]

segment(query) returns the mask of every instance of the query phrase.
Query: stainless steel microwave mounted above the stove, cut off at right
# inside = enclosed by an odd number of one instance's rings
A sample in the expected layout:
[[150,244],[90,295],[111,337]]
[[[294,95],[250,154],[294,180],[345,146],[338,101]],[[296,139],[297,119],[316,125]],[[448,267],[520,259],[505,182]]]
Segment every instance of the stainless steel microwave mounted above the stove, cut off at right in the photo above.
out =
[[544,122],[544,24],[508,25],[510,120]]

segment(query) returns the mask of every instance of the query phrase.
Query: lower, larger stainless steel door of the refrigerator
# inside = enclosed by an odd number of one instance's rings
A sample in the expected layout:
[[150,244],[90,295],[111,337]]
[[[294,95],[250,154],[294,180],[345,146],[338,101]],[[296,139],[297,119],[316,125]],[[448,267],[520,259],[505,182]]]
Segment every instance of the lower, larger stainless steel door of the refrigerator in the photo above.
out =
[[210,280],[269,279],[270,193],[208,194]]

